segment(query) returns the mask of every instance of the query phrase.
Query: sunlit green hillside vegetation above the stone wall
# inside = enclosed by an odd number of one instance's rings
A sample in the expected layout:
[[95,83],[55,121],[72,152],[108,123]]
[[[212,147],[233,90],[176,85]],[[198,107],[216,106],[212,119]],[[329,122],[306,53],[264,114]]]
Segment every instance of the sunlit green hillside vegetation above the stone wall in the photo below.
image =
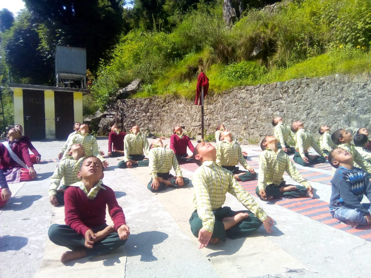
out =
[[198,3],[172,32],[122,36],[110,61],[101,60],[91,87],[98,106],[134,79],[142,89],[128,97],[194,96],[198,66],[218,94],[242,85],[335,73],[370,72],[371,0],[302,0],[274,13],[249,9],[226,27],[222,3]]

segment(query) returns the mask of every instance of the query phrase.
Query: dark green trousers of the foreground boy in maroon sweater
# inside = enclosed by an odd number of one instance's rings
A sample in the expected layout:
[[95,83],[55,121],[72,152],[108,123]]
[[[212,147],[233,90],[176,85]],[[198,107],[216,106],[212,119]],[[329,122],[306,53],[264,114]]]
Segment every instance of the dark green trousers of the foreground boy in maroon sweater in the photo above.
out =
[[[93,232],[102,231],[107,225],[92,228]],[[106,238],[93,244],[93,248],[85,247],[85,238],[68,225],[52,224],[47,232],[50,241],[59,246],[65,246],[71,250],[84,249],[86,257],[104,255],[124,245],[126,240],[121,240],[118,234],[111,233]]]

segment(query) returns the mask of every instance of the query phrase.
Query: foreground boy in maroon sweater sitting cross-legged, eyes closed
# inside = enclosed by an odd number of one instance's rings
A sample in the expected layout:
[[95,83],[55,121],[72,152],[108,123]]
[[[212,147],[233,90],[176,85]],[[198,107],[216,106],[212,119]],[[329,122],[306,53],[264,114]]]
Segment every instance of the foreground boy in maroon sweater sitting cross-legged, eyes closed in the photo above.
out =
[[[101,160],[85,159],[77,175],[81,182],[65,191],[66,225],[53,224],[48,231],[50,241],[72,250],[62,253],[63,263],[107,254],[124,245],[130,234],[114,191],[102,183]],[[113,226],[106,224],[106,206]]]

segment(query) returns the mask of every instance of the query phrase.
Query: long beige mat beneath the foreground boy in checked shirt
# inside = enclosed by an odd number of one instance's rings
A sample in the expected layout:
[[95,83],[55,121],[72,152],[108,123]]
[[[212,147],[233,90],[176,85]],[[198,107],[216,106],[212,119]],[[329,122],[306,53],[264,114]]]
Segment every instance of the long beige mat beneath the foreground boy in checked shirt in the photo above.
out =
[[[148,168],[128,169],[135,174],[145,186],[151,179]],[[187,171],[183,170],[187,176]],[[189,172],[188,172],[189,173]],[[191,175],[191,173],[189,173]],[[168,189],[154,193],[170,215],[175,219],[182,231],[187,234],[198,247],[197,238],[191,233],[189,217],[193,211],[193,188]],[[228,194],[229,195],[229,194]],[[226,205],[240,210],[243,206],[232,195],[227,195]],[[209,245],[201,252],[210,259],[221,277],[285,277],[285,267],[302,271],[308,269],[295,258],[269,241],[269,236],[256,233],[249,238],[227,239],[226,242]],[[288,276],[286,276],[288,277]]]

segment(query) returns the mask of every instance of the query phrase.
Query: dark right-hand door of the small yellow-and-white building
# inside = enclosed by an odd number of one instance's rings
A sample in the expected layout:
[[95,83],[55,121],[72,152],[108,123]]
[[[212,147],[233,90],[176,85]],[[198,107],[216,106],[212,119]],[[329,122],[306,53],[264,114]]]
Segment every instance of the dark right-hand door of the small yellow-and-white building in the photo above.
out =
[[73,92],[54,91],[55,105],[55,138],[59,140],[67,139],[73,132],[75,115],[73,109]]

